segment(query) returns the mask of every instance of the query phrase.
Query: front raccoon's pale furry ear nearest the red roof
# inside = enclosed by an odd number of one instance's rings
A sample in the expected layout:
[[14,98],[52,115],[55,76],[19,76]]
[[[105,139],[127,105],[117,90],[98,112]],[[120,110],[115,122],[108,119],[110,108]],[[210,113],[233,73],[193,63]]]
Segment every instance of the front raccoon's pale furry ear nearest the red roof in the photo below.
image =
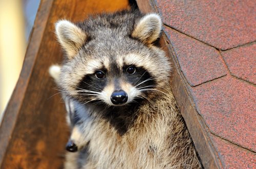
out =
[[138,38],[144,43],[151,44],[159,38],[162,30],[162,21],[157,14],[143,16],[135,25],[133,38]]

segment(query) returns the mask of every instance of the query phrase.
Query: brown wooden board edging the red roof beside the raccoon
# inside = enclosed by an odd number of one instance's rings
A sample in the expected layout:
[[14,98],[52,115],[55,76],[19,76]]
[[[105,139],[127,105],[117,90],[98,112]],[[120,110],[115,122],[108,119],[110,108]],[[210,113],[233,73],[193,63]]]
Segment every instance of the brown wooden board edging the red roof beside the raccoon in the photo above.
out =
[[197,152],[202,160],[203,166],[205,168],[221,168],[217,152],[214,146],[212,146],[211,140],[208,136],[208,128],[201,116],[198,114],[195,108],[195,103],[190,97],[190,93],[187,89],[188,83],[184,79],[181,70],[177,69],[179,66],[178,63],[174,61],[176,57],[173,53],[175,52],[170,44],[167,44],[167,47],[168,55],[172,58],[175,65],[171,81],[173,93]]

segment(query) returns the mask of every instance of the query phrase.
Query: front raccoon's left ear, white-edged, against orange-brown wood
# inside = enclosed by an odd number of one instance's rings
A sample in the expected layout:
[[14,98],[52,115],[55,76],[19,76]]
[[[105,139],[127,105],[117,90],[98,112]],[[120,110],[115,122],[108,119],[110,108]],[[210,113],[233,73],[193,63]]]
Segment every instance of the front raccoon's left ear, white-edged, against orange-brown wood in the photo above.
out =
[[87,39],[87,34],[68,20],[59,20],[55,24],[55,33],[60,45],[67,52],[69,59],[74,57]]

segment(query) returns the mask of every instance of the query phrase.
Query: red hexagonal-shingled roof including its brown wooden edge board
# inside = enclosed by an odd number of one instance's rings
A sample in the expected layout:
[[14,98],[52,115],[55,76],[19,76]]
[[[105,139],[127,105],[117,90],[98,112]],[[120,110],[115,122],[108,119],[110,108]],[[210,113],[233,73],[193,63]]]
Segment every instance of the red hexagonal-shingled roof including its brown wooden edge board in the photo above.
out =
[[174,94],[204,166],[256,168],[256,3],[138,6],[161,15]]

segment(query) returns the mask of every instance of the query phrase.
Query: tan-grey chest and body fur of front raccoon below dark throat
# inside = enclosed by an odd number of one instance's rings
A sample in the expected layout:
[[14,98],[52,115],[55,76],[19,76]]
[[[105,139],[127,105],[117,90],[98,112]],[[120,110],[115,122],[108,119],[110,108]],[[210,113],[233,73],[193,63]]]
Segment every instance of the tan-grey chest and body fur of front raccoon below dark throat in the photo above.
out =
[[[108,119],[95,117],[80,126],[87,158],[79,168],[199,168],[196,151],[171,94],[139,107],[124,134]],[[77,156],[79,153],[70,153]],[[70,157],[68,158],[70,159]],[[72,158],[71,158],[72,159]],[[81,157],[80,161],[84,160]],[[66,168],[69,168],[67,161]]]

